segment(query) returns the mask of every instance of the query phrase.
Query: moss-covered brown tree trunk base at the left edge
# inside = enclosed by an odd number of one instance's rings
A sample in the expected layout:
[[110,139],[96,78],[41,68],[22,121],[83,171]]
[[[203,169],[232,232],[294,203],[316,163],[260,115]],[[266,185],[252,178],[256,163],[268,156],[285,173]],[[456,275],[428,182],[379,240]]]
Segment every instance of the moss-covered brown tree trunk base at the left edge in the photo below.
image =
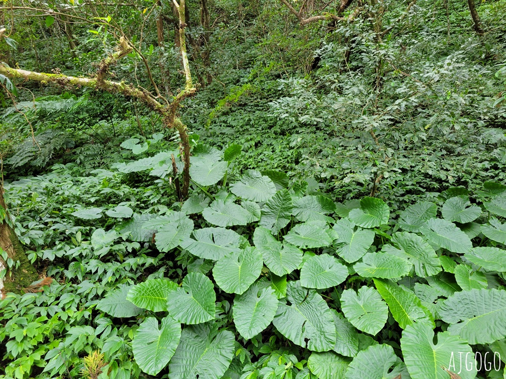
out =
[[[30,286],[38,279],[35,268],[30,264],[18,237],[10,225],[9,213],[4,201],[4,188],[0,183],[0,248],[19,266],[0,279],[0,298],[8,292],[21,293],[21,290]],[[7,262],[0,258],[0,270],[7,268]]]

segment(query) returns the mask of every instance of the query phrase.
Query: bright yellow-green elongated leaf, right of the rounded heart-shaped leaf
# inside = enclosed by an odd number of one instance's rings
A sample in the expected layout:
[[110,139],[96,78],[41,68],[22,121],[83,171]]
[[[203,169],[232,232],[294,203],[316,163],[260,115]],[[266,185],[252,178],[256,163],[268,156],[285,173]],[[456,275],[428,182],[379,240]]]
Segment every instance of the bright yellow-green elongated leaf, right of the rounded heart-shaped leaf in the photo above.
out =
[[385,279],[374,279],[374,284],[402,329],[414,322],[436,326],[431,311],[421,305],[420,299],[406,287]]

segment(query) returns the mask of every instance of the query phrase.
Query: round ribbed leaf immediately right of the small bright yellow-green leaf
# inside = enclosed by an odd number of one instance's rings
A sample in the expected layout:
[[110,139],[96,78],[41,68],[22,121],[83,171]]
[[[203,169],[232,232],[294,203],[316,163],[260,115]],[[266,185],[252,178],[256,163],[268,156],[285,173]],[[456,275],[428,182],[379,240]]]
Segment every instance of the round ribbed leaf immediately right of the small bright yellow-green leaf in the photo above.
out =
[[215,318],[215,302],[213,282],[204,274],[191,272],[183,279],[183,286],[168,296],[167,310],[179,322],[198,324]]

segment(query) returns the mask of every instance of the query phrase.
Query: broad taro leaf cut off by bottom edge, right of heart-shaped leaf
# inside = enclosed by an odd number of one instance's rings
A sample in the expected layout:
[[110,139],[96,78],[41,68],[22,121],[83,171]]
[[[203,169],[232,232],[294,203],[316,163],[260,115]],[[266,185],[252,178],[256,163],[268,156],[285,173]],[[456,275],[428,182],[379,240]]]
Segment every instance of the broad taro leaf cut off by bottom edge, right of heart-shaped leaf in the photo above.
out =
[[169,379],[220,379],[234,357],[234,335],[213,322],[185,327],[168,364]]

